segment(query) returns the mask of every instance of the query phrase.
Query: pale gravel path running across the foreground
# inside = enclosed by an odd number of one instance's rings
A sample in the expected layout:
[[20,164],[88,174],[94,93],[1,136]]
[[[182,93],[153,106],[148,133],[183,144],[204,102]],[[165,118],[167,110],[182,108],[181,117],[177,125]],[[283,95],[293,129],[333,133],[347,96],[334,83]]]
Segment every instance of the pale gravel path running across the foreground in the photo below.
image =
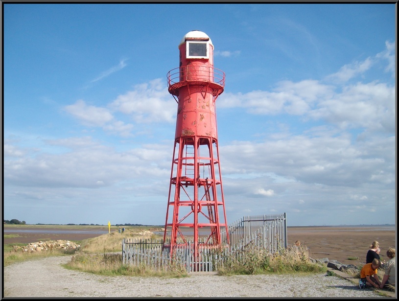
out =
[[376,298],[351,281],[325,274],[312,276],[190,275],[186,278],[98,276],[67,270],[71,256],[12,264],[3,269],[7,297],[306,297]]

